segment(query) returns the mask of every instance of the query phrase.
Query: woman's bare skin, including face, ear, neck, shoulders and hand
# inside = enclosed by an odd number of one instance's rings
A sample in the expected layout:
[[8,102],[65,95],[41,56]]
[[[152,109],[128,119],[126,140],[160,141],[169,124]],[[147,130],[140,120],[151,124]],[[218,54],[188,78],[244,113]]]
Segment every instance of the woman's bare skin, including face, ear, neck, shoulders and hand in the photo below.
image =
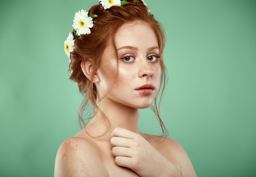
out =
[[[138,130],[139,109],[152,104],[160,87],[154,31],[144,23],[128,23],[117,31],[115,40],[118,60],[109,45],[97,73],[91,73],[90,62],[81,62],[83,73],[96,85],[98,100],[103,98],[98,106],[108,116],[110,130],[105,117],[96,110],[85,128],[61,144],[54,176],[196,177],[179,143]],[[150,89],[138,89],[145,84]]]

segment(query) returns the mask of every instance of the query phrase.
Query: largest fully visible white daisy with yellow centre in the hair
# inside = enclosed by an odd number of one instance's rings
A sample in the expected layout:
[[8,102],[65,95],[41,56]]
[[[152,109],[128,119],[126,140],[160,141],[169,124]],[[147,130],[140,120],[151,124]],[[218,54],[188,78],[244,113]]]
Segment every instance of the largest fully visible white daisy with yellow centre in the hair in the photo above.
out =
[[73,28],[76,30],[76,35],[90,34],[90,28],[93,27],[93,21],[91,17],[88,17],[88,12],[81,10],[76,12],[73,20]]

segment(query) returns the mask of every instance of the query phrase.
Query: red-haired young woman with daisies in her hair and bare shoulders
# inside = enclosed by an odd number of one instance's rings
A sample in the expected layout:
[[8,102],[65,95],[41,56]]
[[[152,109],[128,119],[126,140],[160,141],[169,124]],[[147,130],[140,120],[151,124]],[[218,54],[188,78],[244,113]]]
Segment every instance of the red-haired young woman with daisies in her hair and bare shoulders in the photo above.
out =
[[[70,79],[85,96],[81,121],[89,103],[93,116],[61,144],[54,176],[195,177],[182,146],[165,137],[157,110],[165,84],[164,33],[146,4],[100,0],[76,13],[73,28],[65,41]],[[138,130],[139,109],[152,105],[162,137]]]

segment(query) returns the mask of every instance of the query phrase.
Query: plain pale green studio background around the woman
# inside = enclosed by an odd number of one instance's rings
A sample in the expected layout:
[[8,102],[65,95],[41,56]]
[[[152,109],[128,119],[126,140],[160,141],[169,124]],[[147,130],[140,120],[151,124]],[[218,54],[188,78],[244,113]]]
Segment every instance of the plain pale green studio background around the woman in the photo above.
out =
[[[166,31],[161,113],[198,177],[256,176],[256,1],[145,0]],[[82,101],[63,42],[98,0],[0,2],[0,176],[53,176]],[[144,133],[161,133],[142,110]]]

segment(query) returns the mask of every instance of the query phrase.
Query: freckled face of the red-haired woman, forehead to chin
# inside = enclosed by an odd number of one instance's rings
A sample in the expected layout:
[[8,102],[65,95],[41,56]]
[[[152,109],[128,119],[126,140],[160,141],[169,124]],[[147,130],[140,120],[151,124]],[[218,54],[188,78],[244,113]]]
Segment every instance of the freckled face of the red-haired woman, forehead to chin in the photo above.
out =
[[102,100],[108,105],[149,107],[161,82],[159,47],[153,29],[145,23],[124,24],[115,34],[115,44],[117,56],[115,47],[109,44],[97,70],[98,99],[111,88]]

